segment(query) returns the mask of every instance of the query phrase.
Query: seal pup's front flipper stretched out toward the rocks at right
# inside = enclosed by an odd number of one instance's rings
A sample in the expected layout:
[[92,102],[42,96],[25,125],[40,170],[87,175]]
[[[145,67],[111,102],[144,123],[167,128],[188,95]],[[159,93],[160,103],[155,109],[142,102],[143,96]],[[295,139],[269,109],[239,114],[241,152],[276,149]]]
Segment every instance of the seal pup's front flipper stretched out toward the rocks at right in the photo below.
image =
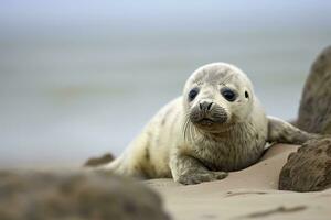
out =
[[316,139],[319,136],[319,134],[312,134],[302,131],[281,119],[268,117],[267,142],[302,144],[310,139]]

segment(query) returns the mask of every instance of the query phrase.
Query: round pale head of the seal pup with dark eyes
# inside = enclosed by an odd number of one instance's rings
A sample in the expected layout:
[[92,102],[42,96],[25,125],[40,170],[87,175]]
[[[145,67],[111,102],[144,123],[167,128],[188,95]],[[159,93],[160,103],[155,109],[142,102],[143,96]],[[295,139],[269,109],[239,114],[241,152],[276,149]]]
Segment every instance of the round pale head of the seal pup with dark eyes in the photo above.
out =
[[253,92],[250,80],[239,68],[225,63],[204,65],[184,87],[185,124],[211,133],[224,132],[249,116]]

